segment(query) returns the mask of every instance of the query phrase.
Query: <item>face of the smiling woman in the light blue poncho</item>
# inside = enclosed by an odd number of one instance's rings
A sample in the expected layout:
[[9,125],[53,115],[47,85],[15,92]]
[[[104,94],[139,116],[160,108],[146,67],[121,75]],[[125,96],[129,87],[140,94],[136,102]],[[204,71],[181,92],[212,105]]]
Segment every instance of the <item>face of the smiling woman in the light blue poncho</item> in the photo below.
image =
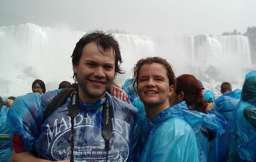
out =
[[174,92],[173,85],[169,86],[167,70],[158,63],[144,64],[138,76],[137,92],[145,107],[153,104],[169,107],[169,96]]

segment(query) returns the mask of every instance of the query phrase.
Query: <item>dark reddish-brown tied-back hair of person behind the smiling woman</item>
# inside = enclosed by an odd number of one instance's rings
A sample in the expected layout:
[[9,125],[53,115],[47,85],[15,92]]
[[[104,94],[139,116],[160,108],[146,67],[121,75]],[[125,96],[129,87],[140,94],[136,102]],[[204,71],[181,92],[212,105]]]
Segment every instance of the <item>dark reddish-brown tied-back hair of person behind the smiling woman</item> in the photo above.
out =
[[177,77],[176,94],[179,92],[184,93],[183,100],[186,101],[188,107],[192,107],[193,110],[202,113],[207,113],[207,102],[199,95],[201,94],[201,85],[193,75],[184,74]]

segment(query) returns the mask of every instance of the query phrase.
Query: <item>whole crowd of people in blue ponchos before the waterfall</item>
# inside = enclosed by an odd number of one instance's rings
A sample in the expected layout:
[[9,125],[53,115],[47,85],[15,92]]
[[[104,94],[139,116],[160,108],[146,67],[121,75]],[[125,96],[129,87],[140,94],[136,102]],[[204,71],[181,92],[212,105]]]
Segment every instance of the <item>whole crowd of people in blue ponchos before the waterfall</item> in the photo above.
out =
[[73,84],[46,92],[36,79],[33,93],[8,98],[8,107],[0,98],[11,162],[256,160],[256,71],[246,74],[242,90],[223,82],[215,99],[160,57],[139,60],[120,87],[119,44],[102,31],[85,34],[71,57]]

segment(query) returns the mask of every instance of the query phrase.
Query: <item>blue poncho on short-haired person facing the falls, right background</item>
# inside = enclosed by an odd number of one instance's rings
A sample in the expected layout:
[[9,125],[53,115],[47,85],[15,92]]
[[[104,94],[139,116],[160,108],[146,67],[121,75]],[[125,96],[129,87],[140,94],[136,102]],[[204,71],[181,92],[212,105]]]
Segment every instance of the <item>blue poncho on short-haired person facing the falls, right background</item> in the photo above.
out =
[[216,100],[214,110],[221,113],[226,120],[229,120],[232,117],[232,111],[237,107],[240,96],[241,90],[239,89],[219,96]]

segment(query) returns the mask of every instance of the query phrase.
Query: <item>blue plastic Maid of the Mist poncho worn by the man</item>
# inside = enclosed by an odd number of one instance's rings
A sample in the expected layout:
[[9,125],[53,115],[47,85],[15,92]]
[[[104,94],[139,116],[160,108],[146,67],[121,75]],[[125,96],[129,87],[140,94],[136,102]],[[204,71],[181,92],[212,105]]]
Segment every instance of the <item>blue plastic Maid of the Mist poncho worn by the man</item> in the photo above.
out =
[[[70,98],[43,121],[43,113],[52,99],[59,93],[55,90],[43,94],[28,94],[17,97],[8,115],[11,122],[11,137],[20,134],[27,151],[36,150],[48,160],[70,159],[71,122],[68,117]],[[79,113],[74,120],[74,160],[120,160],[137,159],[137,139],[140,117],[137,109],[117,98],[111,97],[113,136],[110,149],[104,148],[102,136],[102,105],[105,98],[95,104],[83,104],[79,100]],[[132,157],[133,155],[133,157]]]

